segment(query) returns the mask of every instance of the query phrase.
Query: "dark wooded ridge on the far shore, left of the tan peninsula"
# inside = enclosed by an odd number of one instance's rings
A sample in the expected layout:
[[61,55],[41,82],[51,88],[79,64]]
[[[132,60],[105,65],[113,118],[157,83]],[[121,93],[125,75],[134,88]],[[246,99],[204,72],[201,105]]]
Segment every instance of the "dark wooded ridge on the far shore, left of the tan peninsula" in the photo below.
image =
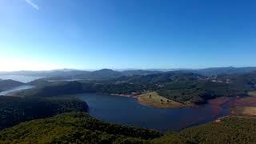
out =
[[53,82],[30,90],[21,90],[14,95],[19,97],[52,97],[66,94],[106,93],[106,94],[141,94],[145,90],[156,90],[156,86],[131,83],[93,83],[93,82]]

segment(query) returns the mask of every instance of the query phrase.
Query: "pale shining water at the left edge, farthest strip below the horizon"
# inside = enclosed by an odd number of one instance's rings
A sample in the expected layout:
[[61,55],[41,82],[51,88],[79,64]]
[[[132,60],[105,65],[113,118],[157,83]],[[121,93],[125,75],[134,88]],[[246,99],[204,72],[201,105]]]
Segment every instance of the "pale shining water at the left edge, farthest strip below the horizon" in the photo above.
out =
[[0,75],[0,79],[12,79],[14,81],[18,82],[32,82],[36,79],[39,79],[42,77],[32,77],[32,76],[23,76],[23,75]]

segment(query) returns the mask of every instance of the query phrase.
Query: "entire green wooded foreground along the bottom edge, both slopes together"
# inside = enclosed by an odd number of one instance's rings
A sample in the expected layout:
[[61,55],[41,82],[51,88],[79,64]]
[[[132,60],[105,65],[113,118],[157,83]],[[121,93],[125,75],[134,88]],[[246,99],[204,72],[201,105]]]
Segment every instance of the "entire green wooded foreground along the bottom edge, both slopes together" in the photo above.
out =
[[118,126],[85,113],[23,122],[0,131],[0,142],[32,143],[254,143],[256,119],[227,117],[162,136],[157,131]]

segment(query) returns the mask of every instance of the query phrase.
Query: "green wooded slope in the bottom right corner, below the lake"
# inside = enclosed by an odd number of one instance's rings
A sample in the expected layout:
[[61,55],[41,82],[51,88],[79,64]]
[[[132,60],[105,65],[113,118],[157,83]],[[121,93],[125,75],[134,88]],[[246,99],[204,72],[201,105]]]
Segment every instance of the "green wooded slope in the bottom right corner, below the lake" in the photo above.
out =
[[220,122],[182,130],[179,133],[166,134],[152,141],[164,143],[255,143],[256,119],[242,117],[222,118]]

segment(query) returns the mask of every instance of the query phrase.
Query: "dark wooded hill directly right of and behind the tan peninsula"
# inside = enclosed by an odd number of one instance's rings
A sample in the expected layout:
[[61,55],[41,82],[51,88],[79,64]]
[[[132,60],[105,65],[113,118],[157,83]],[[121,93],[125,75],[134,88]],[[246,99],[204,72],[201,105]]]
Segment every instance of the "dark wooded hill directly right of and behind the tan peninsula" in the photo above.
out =
[[236,86],[232,86],[230,83],[198,80],[194,82],[169,83],[165,89],[158,90],[158,94],[177,102],[202,104],[212,98],[244,96],[247,94],[247,91],[242,87],[236,88]]

